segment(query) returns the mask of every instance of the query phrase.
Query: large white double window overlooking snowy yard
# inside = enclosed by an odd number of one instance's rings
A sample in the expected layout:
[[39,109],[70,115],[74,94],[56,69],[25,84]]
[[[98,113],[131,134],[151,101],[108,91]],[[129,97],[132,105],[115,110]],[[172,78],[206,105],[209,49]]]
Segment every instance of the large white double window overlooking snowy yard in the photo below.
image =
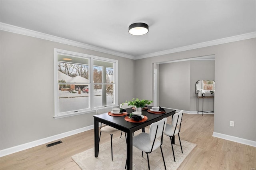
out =
[[54,49],[54,117],[115,106],[117,65],[117,60]]

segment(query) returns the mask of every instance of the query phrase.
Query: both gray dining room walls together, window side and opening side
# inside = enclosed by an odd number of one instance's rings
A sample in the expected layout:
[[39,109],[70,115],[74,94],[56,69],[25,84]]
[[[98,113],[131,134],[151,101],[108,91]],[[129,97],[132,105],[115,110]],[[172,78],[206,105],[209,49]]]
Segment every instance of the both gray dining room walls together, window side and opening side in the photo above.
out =
[[5,31],[0,41],[1,150],[93,125],[95,113],[53,118],[53,48],[117,59],[118,103],[153,99],[153,63],[215,55],[214,132],[256,141],[255,38],[135,61]]

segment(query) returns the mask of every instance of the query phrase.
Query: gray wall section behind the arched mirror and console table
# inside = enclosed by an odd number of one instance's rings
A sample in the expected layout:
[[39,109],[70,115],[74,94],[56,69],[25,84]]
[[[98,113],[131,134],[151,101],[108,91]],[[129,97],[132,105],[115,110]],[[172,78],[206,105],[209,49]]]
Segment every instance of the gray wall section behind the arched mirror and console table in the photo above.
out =
[[[214,60],[192,60],[190,61],[190,110],[197,111],[197,101],[199,111],[202,111],[202,99],[198,100],[196,94],[196,82],[198,80],[215,80]],[[204,99],[204,111],[214,111],[214,99]]]

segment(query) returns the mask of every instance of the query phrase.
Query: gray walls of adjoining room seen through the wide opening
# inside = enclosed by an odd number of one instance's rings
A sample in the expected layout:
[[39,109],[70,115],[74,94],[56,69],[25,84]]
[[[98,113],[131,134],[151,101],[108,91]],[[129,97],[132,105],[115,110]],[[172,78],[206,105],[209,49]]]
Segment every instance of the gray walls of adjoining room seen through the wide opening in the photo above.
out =
[[[214,61],[179,61],[159,65],[159,96],[162,107],[197,111],[196,81],[214,80]],[[199,100],[202,111],[202,99]],[[213,111],[213,99],[204,99],[204,111]]]

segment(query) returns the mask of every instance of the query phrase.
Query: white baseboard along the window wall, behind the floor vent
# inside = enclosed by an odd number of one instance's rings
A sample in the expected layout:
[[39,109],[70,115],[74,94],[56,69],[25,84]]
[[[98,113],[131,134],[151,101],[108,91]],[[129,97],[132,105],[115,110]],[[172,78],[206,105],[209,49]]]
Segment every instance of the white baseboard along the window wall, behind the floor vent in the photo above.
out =
[[79,129],[76,129],[76,130],[71,130],[69,132],[64,132],[64,133],[61,133],[61,134],[57,134],[57,135],[50,136],[50,137],[47,137],[47,138],[35,140],[35,141],[32,141],[32,142],[28,142],[28,143],[21,144],[21,145],[18,145],[18,146],[14,146],[14,147],[11,147],[11,148],[6,148],[6,149],[3,149],[3,150],[0,150],[0,157],[6,156],[6,155],[9,155],[9,154],[13,154],[15,152],[19,152],[19,151],[22,151],[22,150],[26,150],[26,149],[29,149],[29,148],[33,148],[33,147],[39,146],[41,144],[46,144],[46,143],[52,142],[54,140],[59,140],[61,138],[65,138],[65,137],[68,137],[68,136],[71,136],[71,135],[74,135],[74,134],[78,134],[78,133],[81,133],[81,132],[85,132],[85,131],[91,130],[91,129],[94,129],[94,125],[79,128]]

